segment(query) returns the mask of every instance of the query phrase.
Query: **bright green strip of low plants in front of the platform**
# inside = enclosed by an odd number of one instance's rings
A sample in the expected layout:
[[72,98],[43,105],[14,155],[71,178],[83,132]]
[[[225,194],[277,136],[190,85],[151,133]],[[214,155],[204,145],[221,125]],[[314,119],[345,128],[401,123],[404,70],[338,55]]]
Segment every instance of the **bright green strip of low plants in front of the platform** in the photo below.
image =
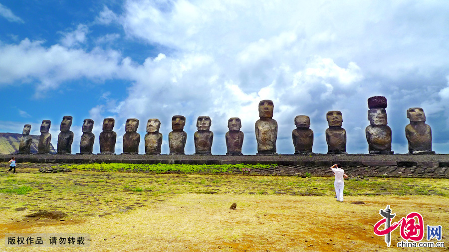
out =
[[103,171],[103,172],[152,172],[166,173],[179,172],[189,173],[225,173],[241,171],[243,168],[250,169],[266,169],[277,166],[276,164],[124,164],[124,163],[92,163],[92,164],[65,164],[60,165],[61,168],[77,169],[80,171]]

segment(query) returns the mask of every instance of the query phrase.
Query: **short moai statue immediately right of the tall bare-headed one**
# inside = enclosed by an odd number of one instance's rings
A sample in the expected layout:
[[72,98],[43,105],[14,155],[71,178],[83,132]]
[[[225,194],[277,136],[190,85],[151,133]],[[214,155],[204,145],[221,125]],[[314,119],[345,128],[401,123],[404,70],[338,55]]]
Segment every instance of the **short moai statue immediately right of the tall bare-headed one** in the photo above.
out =
[[295,155],[312,154],[313,130],[310,129],[310,118],[308,116],[295,117],[296,128],[291,132]]

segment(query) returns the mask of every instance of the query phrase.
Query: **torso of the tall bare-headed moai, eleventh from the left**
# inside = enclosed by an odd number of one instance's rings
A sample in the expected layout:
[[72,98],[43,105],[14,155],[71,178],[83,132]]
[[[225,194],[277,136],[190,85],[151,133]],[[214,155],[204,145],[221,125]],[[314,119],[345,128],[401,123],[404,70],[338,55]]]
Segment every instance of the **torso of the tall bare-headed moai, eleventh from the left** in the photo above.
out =
[[277,122],[274,119],[257,120],[255,131],[257,151],[276,152]]

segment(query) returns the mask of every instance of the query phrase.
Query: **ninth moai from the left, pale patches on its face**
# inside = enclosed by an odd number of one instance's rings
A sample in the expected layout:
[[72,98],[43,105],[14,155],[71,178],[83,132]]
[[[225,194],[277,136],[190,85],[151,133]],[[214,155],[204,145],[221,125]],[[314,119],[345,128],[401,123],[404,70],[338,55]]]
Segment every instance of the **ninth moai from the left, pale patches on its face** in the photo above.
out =
[[212,141],[214,140],[214,133],[209,130],[212,125],[212,120],[209,117],[198,117],[197,128],[198,131],[194,134],[195,140],[195,154],[211,155]]

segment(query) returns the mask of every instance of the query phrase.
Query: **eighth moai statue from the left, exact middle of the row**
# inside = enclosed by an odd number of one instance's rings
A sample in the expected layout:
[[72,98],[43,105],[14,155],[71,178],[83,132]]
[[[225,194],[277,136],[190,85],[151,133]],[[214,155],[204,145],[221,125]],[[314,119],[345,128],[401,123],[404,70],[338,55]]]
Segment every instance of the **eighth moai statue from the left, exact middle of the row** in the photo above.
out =
[[186,146],[187,133],[184,131],[186,118],[183,116],[173,116],[172,129],[169,133],[170,154],[184,154]]

